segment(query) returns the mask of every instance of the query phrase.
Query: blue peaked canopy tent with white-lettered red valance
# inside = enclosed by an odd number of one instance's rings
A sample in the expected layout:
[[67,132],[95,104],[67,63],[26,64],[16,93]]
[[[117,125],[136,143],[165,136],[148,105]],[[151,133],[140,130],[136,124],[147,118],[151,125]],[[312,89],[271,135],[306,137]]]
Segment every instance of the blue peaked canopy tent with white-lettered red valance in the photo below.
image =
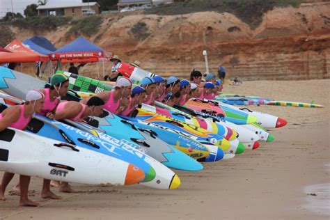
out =
[[81,59],[81,62],[96,62],[98,61],[98,58],[103,57],[103,49],[97,47],[81,36],[70,42],[68,45],[56,50],[51,57],[53,60]]

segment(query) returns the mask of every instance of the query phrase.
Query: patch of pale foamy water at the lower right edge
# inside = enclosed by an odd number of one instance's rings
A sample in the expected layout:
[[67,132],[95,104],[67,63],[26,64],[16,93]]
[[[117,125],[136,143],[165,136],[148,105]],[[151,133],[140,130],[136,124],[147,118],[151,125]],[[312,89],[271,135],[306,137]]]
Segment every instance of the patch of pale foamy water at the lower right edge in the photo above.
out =
[[[325,166],[330,169],[330,164]],[[304,205],[306,210],[330,217],[330,183],[310,185],[305,187],[304,193],[307,194]]]

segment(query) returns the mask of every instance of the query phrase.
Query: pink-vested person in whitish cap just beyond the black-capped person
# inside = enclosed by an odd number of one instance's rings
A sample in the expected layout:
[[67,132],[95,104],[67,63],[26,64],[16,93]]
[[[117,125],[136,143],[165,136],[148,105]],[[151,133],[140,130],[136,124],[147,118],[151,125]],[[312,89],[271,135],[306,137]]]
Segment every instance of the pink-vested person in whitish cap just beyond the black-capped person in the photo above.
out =
[[[91,97],[100,97],[104,101],[104,109],[110,111],[114,114],[123,111],[123,99],[129,99],[132,91],[132,81],[126,77],[121,77],[117,80],[115,88],[112,91],[105,91],[102,93],[97,93]],[[86,104],[91,97],[86,97],[80,102]]]

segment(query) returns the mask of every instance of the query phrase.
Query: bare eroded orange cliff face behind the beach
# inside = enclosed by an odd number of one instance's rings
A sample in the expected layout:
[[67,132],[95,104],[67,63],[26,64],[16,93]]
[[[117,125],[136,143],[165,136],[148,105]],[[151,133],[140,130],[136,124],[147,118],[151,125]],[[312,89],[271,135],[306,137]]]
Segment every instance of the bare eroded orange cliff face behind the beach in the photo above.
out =
[[[46,36],[61,47],[75,38],[63,37],[69,28]],[[18,34],[21,40],[27,35]],[[105,15],[99,33],[90,40],[123,61],[139,60],[143,69],[164,76],[188,77],[192,68],[205,72],[202,52],[207,49],[210,71],[217,72],[222,64],[228,77],[330,78],[329,1],[275,8],[254,30],[229,13]],[[110,68],[107,64],[107,72]],[[86,65],[83,72],[93,76],[95,65]]]

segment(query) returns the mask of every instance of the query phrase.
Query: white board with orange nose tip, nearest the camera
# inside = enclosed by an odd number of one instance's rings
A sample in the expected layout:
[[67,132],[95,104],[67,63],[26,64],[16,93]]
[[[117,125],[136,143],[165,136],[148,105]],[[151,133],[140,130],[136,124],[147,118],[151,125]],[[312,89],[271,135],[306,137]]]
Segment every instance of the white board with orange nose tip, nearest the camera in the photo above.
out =
[[13,128],[0,132],[0,171],[84,184],[125,185],[145,178],[120,159]]

